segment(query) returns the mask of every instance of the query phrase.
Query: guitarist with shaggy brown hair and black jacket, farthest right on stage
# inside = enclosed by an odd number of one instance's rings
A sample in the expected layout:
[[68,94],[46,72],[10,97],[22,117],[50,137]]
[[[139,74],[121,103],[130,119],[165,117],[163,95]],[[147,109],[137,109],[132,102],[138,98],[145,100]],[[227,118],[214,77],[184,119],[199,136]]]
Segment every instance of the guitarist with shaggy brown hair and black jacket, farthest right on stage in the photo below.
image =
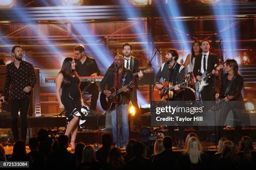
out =
[[[236,111],[237,109],[243,110],[244,103],[243,103],[243,96],[242,96],[242,89],[243,89],[243,77],[238,72],[238,63],[234,59],[228,59],[225,61],[225,71],[227,72],[222,76],[222,85],[220,88],[220,92],[216,93],[215,99],[218,101],[218,105],[220,108],[220,117],[219,117],[219,124],[220,126],[220,133],[219,139],[222,138],[222,132],[225,124],[226,117],[230,110],[233,111],[234,117],[239,117],[239,113]],[[229,102],[233,101],[233,102]],[[238,115],[236,115],[238,114]],[[240,113],[241,114],[241,113]],[[234,140],[235,143],[238,143],[238,140],[241,139],[241,125],[234,123],[235,126],[235,133],[234,133]]]

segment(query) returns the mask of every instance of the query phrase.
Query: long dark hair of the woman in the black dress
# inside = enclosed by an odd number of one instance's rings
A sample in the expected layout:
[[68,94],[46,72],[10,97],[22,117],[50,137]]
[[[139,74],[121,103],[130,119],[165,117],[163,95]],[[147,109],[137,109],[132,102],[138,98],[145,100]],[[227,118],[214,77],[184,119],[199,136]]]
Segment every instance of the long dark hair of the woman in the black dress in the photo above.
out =
[[63,75],[63,82],[61,84],[61,88],[66,88],[70,86],[70,79],[73,77],[73,75],[78,77],[78,80],[80,83],[80,79],[77,72],[75,70],[72,70],[72,61],[73,61],[73,58],[67,57],[62,63],[60,72]]

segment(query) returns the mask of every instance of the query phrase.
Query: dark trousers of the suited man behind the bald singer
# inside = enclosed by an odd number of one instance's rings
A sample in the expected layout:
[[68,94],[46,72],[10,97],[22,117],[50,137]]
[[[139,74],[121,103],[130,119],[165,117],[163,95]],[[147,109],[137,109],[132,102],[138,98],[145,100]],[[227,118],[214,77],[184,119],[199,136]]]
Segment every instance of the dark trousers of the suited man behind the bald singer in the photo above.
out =
[[141,128],[141,110],[138,106],[137,90],[136,89],[134,89],[131,92],[131,103],[132,103],[132,105],[134,107],[134,110],[135,110],[133,124],[138,126],[138,128]]

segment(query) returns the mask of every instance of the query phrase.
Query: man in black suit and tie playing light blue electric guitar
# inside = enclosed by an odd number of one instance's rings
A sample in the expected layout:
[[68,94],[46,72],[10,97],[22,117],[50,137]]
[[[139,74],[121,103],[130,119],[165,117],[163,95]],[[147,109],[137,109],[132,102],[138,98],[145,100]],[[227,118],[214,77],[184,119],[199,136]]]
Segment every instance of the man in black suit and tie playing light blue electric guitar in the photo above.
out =
[[[194,65],[194,76],[197,80],[201,80],[201,75],[207,71],[207,73],[212,72],[212,74],[216,75],[216,86],[218,85],[218,75],[219,72],[214,69],[214,65],[219,65],[218,56],[216,54],[210,53],[210,42],[209,40],[202,40],[200,47],[202,49],[202,53],[195,57],[195,65]],[[214,77],[210,77],[207,80],[209,83],[208,86],[205,86],[201,92],[202,100],[204,101],[214,101],[215,100],[215,89],[214,89]]]

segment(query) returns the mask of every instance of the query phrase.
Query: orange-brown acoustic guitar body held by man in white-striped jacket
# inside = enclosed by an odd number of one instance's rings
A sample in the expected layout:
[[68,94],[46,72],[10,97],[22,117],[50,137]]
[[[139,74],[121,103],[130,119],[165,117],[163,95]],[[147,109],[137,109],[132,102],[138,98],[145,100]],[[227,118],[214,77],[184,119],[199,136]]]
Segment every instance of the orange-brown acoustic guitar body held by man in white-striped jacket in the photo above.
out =
[[[167,95],[168,91],[168,82],[159,82],[160,85],[164,85],[161,89],[158,89],[156,86],[154,88],[154,101],[167,101],[168,95],[169,99],[173,97],[173,91],[169,90],[169,94]],[[169,82],[169,87],[172,87],[172,82]]]

